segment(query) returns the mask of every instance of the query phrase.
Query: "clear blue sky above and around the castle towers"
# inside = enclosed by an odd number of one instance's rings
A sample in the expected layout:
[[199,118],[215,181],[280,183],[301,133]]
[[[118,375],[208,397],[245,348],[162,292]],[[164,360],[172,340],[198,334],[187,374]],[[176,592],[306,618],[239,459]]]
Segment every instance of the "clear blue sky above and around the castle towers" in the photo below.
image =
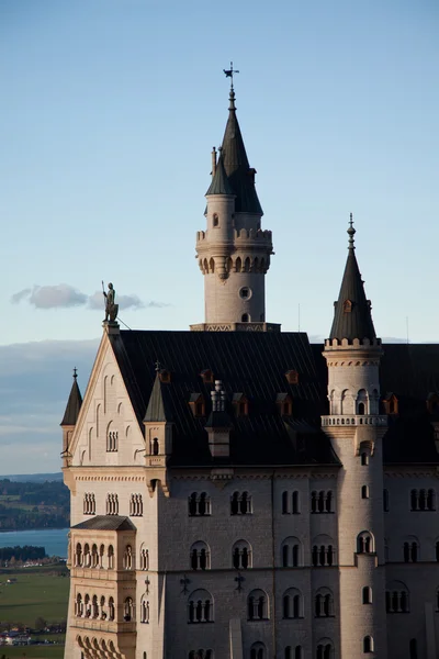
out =
[[296,330],[300,304],[328,333],[352,211],[378,334],[408,317],[412,342],[438,340],[438,32],[436,0],[0,0],[1,354],[89,346],[102,279],[132,327],[203,320],[194,242],[230,59],[273,231],[267,319]]

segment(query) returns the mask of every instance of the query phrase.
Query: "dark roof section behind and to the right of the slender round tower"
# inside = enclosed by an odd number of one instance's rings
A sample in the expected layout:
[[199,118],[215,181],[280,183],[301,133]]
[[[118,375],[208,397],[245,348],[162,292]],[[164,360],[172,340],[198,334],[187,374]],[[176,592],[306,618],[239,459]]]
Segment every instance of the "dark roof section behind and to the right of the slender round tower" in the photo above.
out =
[[[324,346],[312,346],[322,383],[327,386]],[[398,414],[389,417],[389,431],[383,439],[383,459],[391,463],[439,463],[427,398],[439,392],[439,345],[384,344],[380,386],[382,398],[392,392]],[[382,410],[384,413],[384,410]],[[328,411],[326,412],[326,414]]]

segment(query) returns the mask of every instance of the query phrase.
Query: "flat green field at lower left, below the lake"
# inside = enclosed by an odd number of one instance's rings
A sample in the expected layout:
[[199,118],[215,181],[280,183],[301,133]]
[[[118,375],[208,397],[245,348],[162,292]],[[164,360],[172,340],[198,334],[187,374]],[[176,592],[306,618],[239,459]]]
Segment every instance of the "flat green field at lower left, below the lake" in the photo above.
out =
[[[34,627],[35,619],[42,617],[47,623],[59,623],[67,619],[69,579],[66,570],[55,570],[54,567],[5,571],[0,573],[0,623],[20,623]],[[15,583],[7,583],[15,578]],[[20,648],[14,648],[19,650]],[[48,648],[52,651],[52,648]],[[26,648],[24,648],[26,651]],[[33,651],[33,650],[32,650]],[[0,648],[0,657],[2,649]],[[21,657],[22,655],[13,655]],[[26,655],[31,657],[31,655]],[[32,655],[33,657],[34,655]],[[50,657],[58,655],[50,655]],[[12,655],[11,655],[12,657]],[[45,657],[45,655],[35,655]],[[47,655],[49,659],[49,655]]]

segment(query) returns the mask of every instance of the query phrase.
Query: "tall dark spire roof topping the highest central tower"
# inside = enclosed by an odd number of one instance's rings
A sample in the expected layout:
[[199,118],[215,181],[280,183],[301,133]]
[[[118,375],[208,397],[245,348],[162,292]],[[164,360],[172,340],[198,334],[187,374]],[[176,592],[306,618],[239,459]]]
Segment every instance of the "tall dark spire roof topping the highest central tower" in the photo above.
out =
[[226,175],[236,194],[235,211],[262,215],[255,188],[254,170],[250,170],[238,120],[236,118],[235,92],[230,91],[228,121],[223,137],[222,158]]

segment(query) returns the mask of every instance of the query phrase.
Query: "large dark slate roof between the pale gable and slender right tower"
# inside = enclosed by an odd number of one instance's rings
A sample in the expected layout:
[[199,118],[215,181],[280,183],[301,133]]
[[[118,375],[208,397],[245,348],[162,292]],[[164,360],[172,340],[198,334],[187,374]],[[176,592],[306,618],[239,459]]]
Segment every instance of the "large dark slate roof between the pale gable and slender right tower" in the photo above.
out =
[[[140,427],[155,381],[157,359],[171,373],[162,384],[173,421],[171,466],[211,466],[205,431],[214,384],[200,373],[211,369],[226,391],[226,412],[232,418],[230,457],[234,465],[338,465],[330,443],[320,431],[319,416],[326,391],[318,380],[313,354],[303,333],[248,332],[142,332],[111,335],[115,357]],[[300,373],[289,384],[288,370]],[[244,392],[248,416],[236,416],[233,394]],[[193,415],[193,393],[204,398],[206,417]],[[281,416],[278,393],[292,399],[293,417]]]

